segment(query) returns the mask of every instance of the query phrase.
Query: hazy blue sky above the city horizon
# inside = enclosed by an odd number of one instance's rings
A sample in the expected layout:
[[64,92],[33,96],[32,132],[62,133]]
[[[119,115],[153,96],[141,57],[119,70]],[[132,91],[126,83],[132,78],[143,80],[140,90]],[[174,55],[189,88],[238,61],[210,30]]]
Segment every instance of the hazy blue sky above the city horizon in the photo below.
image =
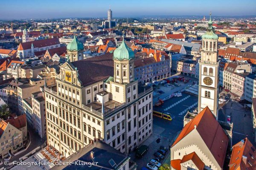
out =
[[0,19],[256,15],[256,0],[0,0]]

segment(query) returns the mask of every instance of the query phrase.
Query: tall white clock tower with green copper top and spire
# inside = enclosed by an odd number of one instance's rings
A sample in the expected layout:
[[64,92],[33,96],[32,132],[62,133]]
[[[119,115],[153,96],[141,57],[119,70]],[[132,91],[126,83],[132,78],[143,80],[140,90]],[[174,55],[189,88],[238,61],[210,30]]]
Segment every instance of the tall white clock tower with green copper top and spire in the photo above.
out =
[[218,119],[218,36],[212,29],[211,14],[207,32],[202,35],[201,59],[199,60],[198,113],[209,107]]

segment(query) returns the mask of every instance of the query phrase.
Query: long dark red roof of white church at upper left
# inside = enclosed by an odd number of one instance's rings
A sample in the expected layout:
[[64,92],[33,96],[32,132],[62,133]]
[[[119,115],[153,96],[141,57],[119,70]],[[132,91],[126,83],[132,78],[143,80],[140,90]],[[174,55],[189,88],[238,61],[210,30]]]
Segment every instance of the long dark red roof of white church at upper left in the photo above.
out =
[[57,37],[55,38],[49,38],[45,40],[35,40],[35,41],[29,41],[29,42],[21,42],[20,45],[18,46],[17,50],[26,50],[30,49],[31,45],[34,45],[34,48],[41,48],[41,47],[47,47],[50,45],[57,45],[60,44],[59,40]]

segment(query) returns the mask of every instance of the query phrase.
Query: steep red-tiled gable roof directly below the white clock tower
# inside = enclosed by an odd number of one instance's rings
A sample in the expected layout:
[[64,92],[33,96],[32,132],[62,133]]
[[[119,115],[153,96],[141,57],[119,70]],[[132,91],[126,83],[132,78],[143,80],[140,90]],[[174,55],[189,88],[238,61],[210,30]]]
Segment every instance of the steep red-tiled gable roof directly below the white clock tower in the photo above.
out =
[[183,127],[172,147],[194,130],[195,126],[219,166],[223,167],[229,139],[208,107]]

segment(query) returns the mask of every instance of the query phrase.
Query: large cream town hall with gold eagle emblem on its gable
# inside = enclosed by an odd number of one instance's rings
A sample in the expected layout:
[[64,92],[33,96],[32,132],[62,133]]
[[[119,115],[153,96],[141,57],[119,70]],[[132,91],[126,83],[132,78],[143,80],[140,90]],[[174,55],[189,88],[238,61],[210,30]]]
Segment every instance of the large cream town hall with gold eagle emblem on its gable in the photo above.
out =
[[96,139],[126,154],[140,145],[152,133],[152,89],[134,74],[124,40],[113,54],[67,59],[45,91],[48,144],[65,157]]

